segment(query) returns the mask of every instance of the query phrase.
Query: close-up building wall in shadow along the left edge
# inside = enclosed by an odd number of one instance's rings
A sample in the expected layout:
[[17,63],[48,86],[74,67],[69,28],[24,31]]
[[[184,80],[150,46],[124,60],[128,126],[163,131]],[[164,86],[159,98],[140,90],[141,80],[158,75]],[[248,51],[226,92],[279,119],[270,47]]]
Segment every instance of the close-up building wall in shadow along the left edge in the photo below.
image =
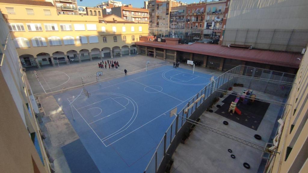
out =
[[39,108],[1,11],[0,43],[0,172],[51,173],[35,118]]

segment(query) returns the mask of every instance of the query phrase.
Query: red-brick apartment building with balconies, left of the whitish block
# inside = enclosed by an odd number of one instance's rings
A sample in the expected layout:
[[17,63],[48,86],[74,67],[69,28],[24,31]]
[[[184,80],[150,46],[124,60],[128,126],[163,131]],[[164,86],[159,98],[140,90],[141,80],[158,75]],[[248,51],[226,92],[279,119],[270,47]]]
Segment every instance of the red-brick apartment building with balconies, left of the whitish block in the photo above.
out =
[[186,7],[186,31],[188,40],[199,41],[203,39],[206,2],[188,4]]

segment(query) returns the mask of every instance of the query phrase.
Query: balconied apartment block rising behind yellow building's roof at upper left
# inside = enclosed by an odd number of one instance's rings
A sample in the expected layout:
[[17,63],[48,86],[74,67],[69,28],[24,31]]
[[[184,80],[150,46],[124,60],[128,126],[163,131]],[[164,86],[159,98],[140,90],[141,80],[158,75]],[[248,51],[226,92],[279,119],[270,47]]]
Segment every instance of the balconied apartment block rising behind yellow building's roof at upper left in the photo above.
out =
[[79,15],[77,0],[54,0],[58,14]]

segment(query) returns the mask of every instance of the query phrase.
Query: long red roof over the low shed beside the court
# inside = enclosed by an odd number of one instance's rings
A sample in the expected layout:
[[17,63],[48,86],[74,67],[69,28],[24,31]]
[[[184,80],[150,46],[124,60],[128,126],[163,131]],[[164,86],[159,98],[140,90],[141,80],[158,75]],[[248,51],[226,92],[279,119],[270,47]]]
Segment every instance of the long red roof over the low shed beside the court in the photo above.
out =
[[301,62],[299,59],[302,59],[303,57],[303,55],[299,53],[229,48],[227,46],[197,42],[191,45],[168,45],[165,42],[153,41],[135,42],[135,44],[293,68],[299,67]]

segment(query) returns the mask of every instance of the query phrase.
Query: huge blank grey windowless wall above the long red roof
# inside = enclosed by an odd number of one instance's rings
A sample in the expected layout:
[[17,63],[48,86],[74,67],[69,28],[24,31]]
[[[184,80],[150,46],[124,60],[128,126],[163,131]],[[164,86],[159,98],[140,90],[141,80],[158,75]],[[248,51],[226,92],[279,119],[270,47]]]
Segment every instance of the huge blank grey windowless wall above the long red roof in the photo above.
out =
[[222,45],[302,52],[308,43],[307,8],[306,0],[231,0]]

